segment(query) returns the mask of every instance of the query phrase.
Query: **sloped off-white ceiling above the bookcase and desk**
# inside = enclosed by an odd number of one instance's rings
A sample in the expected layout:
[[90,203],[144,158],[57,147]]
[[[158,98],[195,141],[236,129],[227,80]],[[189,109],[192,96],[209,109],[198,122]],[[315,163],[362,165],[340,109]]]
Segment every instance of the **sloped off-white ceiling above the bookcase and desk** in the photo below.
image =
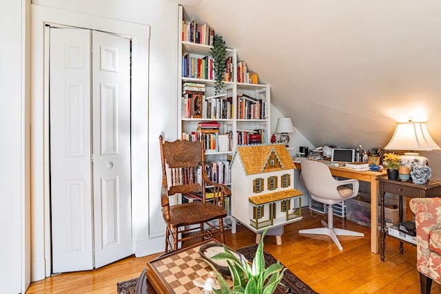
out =
[[176,1],[313,145],[382,148],[409,118],[441,145],[441,1]]

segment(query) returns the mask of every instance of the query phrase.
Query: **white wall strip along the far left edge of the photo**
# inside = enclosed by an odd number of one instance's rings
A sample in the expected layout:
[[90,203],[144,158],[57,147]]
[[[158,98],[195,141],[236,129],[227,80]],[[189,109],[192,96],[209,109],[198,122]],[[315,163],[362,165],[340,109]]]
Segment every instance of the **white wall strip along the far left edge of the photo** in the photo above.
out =
[[0,28],[0,293],[24,292],[29,266],[29,114],[26,105],[26,1],[2,1]]

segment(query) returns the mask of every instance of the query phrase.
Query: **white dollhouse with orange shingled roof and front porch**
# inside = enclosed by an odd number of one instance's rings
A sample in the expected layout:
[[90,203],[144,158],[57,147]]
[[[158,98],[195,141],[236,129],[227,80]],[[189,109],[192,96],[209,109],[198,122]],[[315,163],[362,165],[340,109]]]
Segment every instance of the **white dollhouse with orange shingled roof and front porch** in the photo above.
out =
[[252,231],[302,219],[294,163],[285,145],[238,146],[231,163],[232,216]]

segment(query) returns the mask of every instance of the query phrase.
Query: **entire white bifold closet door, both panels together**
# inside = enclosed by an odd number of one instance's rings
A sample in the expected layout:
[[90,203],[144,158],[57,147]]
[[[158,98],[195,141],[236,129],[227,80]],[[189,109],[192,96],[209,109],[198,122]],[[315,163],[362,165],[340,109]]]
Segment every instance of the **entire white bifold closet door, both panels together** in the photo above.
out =
[[50,28],[52,271],[132,253],[130,40]]

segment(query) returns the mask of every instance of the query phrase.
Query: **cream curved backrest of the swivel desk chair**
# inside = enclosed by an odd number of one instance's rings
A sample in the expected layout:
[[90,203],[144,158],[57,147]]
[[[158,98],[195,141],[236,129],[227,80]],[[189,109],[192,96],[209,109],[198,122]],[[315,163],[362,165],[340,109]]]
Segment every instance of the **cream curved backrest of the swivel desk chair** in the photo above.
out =
[[[301,167],[300,176],[311,196],[333,200],[342,199],[338,193],[338,186],[343,185],[345,181],[336,180],[327,165],[314,160],[302,160]],[[358,185],[356,185],[356,190],[358,193]]]

